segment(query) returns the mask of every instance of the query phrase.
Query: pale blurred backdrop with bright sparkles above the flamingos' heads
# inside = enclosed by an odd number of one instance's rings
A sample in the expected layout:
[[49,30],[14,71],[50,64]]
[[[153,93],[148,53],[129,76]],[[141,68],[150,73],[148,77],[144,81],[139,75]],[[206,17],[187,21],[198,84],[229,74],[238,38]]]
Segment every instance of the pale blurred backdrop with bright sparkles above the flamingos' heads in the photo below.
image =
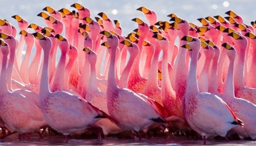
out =
[[[144,14],[136,9],[145,6],[155,11],[158,20],[169,21],[170,13],[175,13],[182,19],[200,25],[197,18],[207,16],[227,16],[226,11],[232,10],[241,17],[246,24],[256,20],[256,0],[0,0],[0,18],[8,19],[17,27],[17,21],[11,16],[20,15],[29,23],[35,23],[45,27],[43,18],[37,14],[46,6],[59,10],[67,8],[74,10],[70,5],[78,2],[91,11],[91,17],[104,12],[111,19],[118,19],[123,35],[129,34],[137,28],[137,24],[131,19],[139,17],[143,21]],[[17,35],[18,36],[18,35]]]

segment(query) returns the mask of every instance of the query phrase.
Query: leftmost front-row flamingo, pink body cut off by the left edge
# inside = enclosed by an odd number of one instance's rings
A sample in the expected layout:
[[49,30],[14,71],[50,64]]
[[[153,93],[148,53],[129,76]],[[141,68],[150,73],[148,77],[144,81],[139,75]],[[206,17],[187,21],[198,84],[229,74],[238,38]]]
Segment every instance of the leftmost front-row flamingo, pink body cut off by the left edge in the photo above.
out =
[[0,75],[0,111],[1,119],[13,131],[30,133],[39,131],[46,125],[43,113],[38,105],[20,93],[20,90],[10,91],[7,88],[7,56],[9,46],[0,40],[2,53],[2,70]]

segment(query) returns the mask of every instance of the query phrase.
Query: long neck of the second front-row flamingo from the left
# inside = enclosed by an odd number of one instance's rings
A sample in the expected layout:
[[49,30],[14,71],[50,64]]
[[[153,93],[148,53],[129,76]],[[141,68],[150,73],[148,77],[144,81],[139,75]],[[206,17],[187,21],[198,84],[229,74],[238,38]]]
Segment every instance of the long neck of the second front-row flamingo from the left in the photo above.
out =
[[43,50],[43,71],[41,75],[41,81],[40,81],[40,92],[39,97],[43,98],[46,97],[46,94],[50,93],[49,89],[49,76],[48,76],[48,63],[49,63],[49,54],[50,51]]

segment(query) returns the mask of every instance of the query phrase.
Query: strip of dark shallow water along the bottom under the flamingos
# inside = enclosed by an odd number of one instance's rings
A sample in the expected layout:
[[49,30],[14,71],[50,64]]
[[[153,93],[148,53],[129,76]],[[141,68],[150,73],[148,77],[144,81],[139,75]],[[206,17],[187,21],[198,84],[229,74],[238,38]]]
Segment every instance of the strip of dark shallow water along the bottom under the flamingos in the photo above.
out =
[[[92,140],[77,140],[69,139],[68,143],[64,142],[63,136],[47,136],[44,139],[39,137],[31,137],[31,140],[17,140],[13,138],[7,138],[1,140],[1,146],[88,146],[88,145],[106,145],[106,146],[198,146],[202,145],[202,140],[193,140],[187,137],[168,137],[163,139],[162,137],[153,137],[149,140],[139,139],[117,139],[115,137],[108,137],[101,141],[97,139]],[[224,140],[209,139],[206,142],[207,145],[212,146],[256,146],[255,141],[249,140],[236,140],[226,142]]]

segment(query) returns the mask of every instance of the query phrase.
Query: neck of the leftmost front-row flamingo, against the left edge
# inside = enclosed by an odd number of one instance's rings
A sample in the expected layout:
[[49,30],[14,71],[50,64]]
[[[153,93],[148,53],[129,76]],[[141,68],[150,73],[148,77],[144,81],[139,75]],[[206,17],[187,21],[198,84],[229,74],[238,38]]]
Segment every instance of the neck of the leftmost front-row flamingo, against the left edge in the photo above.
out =
[[9,91],[7,88],[7,79],[6,79],[6,65],[7,65],[7,55],[2,56],[2,70],[0,75],[0,92],[4,93]]

